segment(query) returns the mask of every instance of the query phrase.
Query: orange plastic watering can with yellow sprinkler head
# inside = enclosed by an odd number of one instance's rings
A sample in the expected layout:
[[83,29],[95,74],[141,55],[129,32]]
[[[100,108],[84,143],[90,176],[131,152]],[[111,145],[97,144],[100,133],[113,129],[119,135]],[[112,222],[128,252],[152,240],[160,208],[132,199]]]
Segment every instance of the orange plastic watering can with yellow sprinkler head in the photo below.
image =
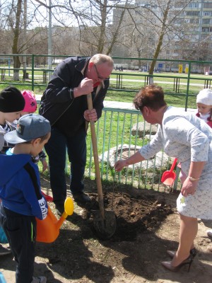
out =
[[54,242],[58,235],[61,224],[63,224],[64,220],[68,215],[73,214],[73,200],[71,197],[67,197],[64,203],[64,213],[61,215],[58,220],[50,207],[48,206],[48,214],[44,220],[40,220],[36,218],[37,221],[37,242],[43,243],[52,243]]

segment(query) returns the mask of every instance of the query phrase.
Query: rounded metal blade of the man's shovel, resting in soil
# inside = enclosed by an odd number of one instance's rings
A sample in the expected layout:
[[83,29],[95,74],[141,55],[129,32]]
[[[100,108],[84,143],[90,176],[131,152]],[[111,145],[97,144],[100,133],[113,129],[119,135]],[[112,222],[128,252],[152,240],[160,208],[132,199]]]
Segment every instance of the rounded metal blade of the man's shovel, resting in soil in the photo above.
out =
[[92,211],[93,226],[98,237],[102,240],[110,239],[117,229],[116,215],[112,211],[105,210],[105,219],[99,211]]

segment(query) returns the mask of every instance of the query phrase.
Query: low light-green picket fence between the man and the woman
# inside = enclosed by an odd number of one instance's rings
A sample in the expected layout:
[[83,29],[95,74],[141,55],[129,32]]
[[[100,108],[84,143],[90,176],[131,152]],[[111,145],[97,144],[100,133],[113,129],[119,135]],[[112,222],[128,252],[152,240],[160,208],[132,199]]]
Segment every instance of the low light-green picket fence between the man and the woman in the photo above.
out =
[[[40,105],[40,99],[37,100]],[[121,158],[128,158],[153,137],[153,125],[143,120],[141,112],[132,109],[130,103],[115,103],[114,107],[105,103],[102,117],[95,124],[102,180],[128,184],[133,187],[153,190],[177,190],[181,187],[178,180],[179,168],[175,168],[177,178],[172,187],[160,182],[163,172],[169,170],[173,158],[159,152],[148,161],[142,161],[124,168],[122,172],[114,171],[114,163]],[[119,105],[119,106],[118,106]],[[119,107],[119,108],[117,108]],[[142,123],[142,127],[139,126]],[[148,126],[148,127],[147,127]],[[148,129],[147,129],[148,128]],[[155,129],[154,129],[155,130]],[[66,163],[66,173],[70,173],[70,163]],[[85,176],[95,179],[95,166],[90,128],[87,133],[87,163]]]

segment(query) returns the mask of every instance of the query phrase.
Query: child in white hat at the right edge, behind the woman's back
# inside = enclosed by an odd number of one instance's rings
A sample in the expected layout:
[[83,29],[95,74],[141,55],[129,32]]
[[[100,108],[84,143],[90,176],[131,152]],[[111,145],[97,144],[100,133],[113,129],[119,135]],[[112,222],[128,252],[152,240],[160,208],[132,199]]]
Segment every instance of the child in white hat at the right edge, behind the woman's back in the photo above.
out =
[[[212,128],[212,91],[210,88],[204,88],[196,96],[196,105],[198,112],[196,116],[204,120]],[[212,230],[207,231],[208,237],[212,238]]]

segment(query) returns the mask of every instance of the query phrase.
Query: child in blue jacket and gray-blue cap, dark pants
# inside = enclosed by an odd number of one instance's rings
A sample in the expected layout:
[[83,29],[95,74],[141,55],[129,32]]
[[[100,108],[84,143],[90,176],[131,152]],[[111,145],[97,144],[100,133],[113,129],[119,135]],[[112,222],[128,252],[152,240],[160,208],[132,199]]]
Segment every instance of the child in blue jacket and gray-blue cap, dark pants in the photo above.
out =
[[47,202],[40,190],[40,174],[32,156],[37,156],[50,137],[51,126],[40,115],[23,115],[16,130],[4,135],[15,144],[0,155],[0,224],[17,262],[16,283],[46,283],[33,277],[36,220],[47,216]]

